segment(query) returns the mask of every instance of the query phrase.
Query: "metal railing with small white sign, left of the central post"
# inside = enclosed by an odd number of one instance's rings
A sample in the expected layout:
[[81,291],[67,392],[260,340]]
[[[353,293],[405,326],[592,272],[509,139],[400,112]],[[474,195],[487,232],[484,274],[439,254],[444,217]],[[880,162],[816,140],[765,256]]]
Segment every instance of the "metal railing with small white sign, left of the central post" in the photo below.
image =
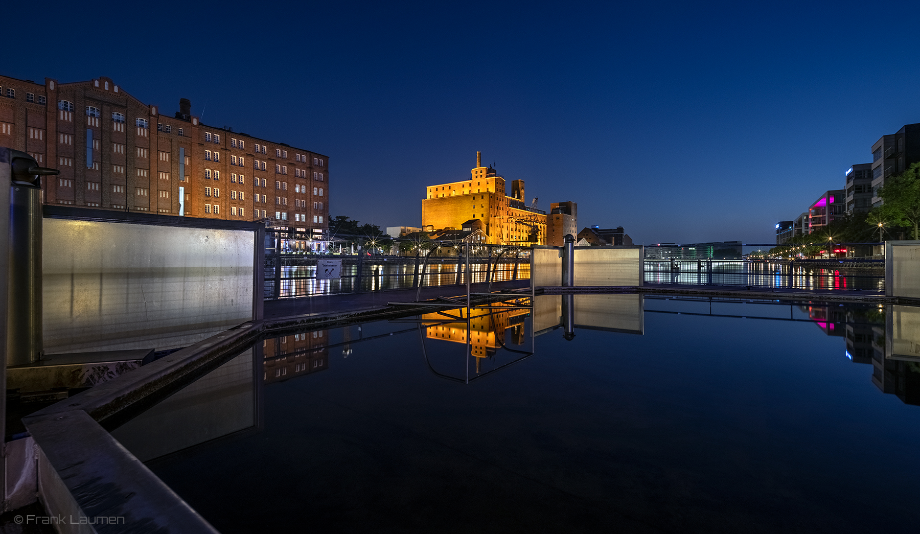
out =
[[[530,278],[530,249],[525,246],[471,244],[469,270],[463,245],[421,244],[395,255],[279,254],[266,249],[265,298],[288,299],[377,290],[412,289]],[[341,260],[340,278],[316,278],[319,260]]]

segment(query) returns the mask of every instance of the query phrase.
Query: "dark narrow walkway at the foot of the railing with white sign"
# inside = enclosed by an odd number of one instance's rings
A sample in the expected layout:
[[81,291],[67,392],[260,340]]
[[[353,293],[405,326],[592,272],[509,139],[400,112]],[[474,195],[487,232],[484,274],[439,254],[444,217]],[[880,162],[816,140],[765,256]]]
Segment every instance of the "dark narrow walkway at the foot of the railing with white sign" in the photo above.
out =
[[[515,280],[493,282],[492,290],[511,290],[529,288],[530,280]],[[472,284],[470,289],[474,293],[485,293],[489,284]],[[341,313],[359,312],[374,308],[385,308],[387,302],[415,301],[415,289],[410,290],[385,290],[368,291],[366,293],[345,293],[339,295],[316,295],[313,297],[300,297],[297,299],[281,299],[278,301],[265,301],[265,318],[277,319],[279,317],[293,317],[305,313]],[[437,297],[466,296],[466,284],[458,286],[432,286],[422,288],[420,300],[425,301]]]

